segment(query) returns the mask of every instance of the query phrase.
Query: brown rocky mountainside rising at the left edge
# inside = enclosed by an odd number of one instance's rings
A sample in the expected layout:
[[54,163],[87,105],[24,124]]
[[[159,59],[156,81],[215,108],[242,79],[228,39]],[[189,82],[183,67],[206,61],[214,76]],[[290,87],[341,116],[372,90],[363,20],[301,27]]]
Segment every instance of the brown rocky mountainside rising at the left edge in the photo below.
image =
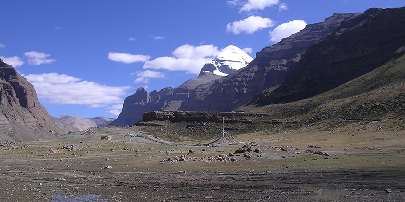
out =
[[0,59],[0,141],[46,139],[76,130],[51,117],[34,86]]

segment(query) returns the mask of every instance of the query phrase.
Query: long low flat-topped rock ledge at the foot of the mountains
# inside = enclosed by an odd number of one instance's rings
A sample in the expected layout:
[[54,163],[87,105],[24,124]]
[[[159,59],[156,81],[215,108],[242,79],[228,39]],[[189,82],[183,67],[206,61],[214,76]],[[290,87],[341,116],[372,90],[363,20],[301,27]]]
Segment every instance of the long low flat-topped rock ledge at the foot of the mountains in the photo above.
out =
[[170,122],[222,122],[252,123],[252,118],[264,117],[267,114],[238,113],[238,112],[197,112],[197,111],[153,111],[143,114],[142,122],[170,121]]

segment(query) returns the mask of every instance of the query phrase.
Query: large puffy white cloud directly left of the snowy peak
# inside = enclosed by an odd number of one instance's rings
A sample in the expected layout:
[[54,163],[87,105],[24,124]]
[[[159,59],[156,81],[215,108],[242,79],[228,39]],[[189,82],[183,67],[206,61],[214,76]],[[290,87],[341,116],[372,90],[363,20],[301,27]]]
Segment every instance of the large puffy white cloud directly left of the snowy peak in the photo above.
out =
[[198,74],[204,64],[212,61],[219,53],[218,47],[214,45],[182,45],[176,48],[173,56],[159,57],[145,62],[145,69],[166,69],[169,71],[187,71],[187,73]]

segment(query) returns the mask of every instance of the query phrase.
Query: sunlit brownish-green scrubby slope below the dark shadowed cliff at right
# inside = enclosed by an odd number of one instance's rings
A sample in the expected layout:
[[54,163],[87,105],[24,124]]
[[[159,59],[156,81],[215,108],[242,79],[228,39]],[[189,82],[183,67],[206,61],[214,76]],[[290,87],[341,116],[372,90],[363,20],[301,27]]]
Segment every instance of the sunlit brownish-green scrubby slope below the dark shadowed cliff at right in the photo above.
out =
[[[404,48],[405,50],[405,48]],[[405,52],[371,72],[325,93],[290,103],[249,105],[239,110],[266,112],[273,119],[318,121],[369,121],[394,119],[405,126]]]

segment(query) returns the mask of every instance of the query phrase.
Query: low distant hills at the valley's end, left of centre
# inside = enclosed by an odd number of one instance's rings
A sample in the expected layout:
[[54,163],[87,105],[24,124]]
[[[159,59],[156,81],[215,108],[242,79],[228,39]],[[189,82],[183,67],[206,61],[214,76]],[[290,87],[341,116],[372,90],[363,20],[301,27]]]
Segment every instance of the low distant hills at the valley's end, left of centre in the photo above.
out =
[[62,121],[64,123],[67,123],[71,126],[74,126],[78,128],[79,130],[87,130],[90,128],[96,128],[96,127],[105,127],[111,121],[113,121],[113,118],[107,118],[107,117],[94,117],[94,118],[80,118],[76,116],[70,116],[70,115],[62,115],[59,117],[56,117],[59,121]]

